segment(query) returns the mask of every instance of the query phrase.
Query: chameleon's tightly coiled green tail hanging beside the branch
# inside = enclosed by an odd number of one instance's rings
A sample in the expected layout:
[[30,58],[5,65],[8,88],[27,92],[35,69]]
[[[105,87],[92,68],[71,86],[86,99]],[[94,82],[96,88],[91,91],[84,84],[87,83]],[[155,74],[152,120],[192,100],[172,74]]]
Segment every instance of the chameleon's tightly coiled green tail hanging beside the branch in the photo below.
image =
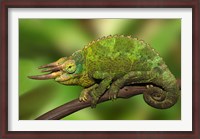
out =
[[177,81],[170,72],[167,72],[167,74],[168,78],[161,78],[156,83],[156,85],[162,86],[162,89],[149,85],[147,86],[148,91],[144,92],[145,102],[152,107],[158,109],[170,108],[176,104],[179,98],[180,90]]

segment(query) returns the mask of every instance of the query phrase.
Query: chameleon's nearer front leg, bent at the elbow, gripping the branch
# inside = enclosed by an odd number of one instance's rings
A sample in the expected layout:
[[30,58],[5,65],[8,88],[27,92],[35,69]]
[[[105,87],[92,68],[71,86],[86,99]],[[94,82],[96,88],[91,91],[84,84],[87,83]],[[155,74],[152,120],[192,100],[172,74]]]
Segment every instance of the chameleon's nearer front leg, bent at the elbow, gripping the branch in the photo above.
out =
[[112,82],[113,76],[110,75],[110,73],[102,73],[96,71],[93,74],[94,79],[100,79],[102,80],[98,87],[91,91],[90,95],[92,97],[91,101],[91,107],[94,108],[97,104],[97,101],[99,98],[105,93],[106,89],[110,86],[110,83]]

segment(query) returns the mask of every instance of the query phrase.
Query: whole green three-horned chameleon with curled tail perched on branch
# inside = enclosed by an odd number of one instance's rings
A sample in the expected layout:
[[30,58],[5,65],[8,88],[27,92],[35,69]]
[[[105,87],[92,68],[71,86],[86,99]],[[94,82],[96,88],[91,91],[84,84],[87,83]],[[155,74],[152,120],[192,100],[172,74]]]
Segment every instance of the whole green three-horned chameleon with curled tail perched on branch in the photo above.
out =
[[84,89],[79,100],[87,101],[90,95],[92,107],[106,90],[110,99],[116,99],[119,90],[130,83],[146,84],[144,100],[159,109],[173,106],[180,94],[176,78],[159,54],[144,41],[131,36],[100,38],[70,57],[39,68],[50,73],[29,78],[80,85]]

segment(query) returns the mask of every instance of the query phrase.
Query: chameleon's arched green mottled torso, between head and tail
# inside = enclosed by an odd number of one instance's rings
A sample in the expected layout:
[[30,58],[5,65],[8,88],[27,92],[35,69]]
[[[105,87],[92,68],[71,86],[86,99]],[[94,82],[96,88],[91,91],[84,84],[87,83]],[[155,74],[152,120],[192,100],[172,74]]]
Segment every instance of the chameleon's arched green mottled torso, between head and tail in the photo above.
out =
[[147,43],[136,38],[109,36],[84,48],[87,71],[125,74],[129,71],[148,71],[164,64]]

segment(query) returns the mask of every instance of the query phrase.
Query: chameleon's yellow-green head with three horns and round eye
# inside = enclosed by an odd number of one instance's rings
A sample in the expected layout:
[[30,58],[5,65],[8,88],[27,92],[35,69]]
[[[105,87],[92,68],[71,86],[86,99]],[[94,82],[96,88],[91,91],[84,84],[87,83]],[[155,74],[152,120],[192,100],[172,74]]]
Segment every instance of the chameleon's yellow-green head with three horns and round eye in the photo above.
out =
[[44,75],[28,76],[31,79],[46,80],[55,79],[55,81],[66,85],[78,85],[79,78],[82,76],[82,63],[80,59],[74,57],[60,58],[56,62],[40,66],[42,72],[49,72]]

